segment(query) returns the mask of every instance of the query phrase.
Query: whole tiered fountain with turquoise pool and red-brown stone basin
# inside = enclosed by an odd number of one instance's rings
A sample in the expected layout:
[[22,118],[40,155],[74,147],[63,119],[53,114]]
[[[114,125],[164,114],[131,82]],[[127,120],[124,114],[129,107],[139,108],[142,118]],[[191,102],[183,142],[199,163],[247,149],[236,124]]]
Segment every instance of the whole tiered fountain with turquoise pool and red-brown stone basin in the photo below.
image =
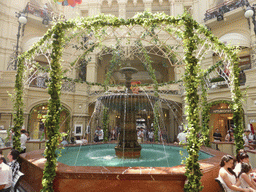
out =
[[[101,96],[95,105],[95,111],[101,106],[119,114],[122,127],[117,145],[66,146],[58,159],[54,191],[84,191],[85,188],[102,192],[183,191],[186,176],[184,165],[180,165],[179,151],[182,148],[162,143],[140,145],[137,141],[136,114],[141,110],[151,110],[152,115],[158,98],[132,93],[131,80],[137,72],[135,68],[124,67],[120,72],[125,75],[126,92]],[[212,181],[218,175],[219,159],[223,154],[209,148],[202,151],[200,164],[204,173],[204,189],[216,191],[218,185]],[[33,187],[33,191],[39,192],[45,164],[43,150],[22,154],[21,161],[24,180]]]

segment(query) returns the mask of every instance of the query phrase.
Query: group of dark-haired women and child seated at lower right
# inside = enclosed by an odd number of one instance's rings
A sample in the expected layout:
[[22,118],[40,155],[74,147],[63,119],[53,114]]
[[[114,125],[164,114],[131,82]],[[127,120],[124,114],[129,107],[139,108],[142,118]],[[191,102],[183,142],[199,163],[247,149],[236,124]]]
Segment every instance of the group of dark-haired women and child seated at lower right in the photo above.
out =
[[241,149],[236,158],[224,155],[220,162],[218,180],[227,192],[245,191],[256,192],[254,171],[249,162],[249,156]]

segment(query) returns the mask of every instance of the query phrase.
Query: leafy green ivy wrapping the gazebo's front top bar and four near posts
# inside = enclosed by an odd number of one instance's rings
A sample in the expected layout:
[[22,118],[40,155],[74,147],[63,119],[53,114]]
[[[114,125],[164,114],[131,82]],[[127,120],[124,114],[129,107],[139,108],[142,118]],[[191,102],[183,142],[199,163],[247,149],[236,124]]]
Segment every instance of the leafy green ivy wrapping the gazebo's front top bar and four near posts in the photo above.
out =
[[[160,14],[151,14],[151,13],[140,13],[137,14],[134,18],[124,20],[120,18],[116,18],[114,16],[104,16],[99,15],[95,17],[84,17],[80,18],[79,22],[76,20],[70,20],[57,23],[51,30],[49,30],[45,36],[33,46],[31,50],[25,52],[23,55],[19,57],[18,60],[18,70],[15,82],[15,91],[16,91],[16,118],[15,121],[15,139],[14,146],[19,149],[19,132],[21,126],[23,124],[23,87],[22,87],[22,77],[24,74],[24,59],[31,59],[32,55],[38,50],[43,43],[50,38],[53,38],[52,42],[52,54],[51,54],[51,71],[50,71],[50,84],[48,92],[51,96],[49,101],[49,111],[47,114],[46,127],[47,127],[47,135],[49,141],[46,143],[45,157],[47,162],[45,164],[44,176],[43,176],[43,190],[42,191],[53,191],[53,179],[56,175],[56,149],[58,145],[58,140],[60,138],[60,133],[58,132],[59,128],[59,109],[60,109],[60,88],[61,88],[61,67],[60,67],[60,59],[62,56],[62,49],[65,43],[64,38],[64,30],[65,29],[88,29],[94,30],[96,32],[95,37],[100,39],[100,34],[98,31],[102,32],[100,29],[104,26],[113,26],[120,27],[122,25],[142,25],[143,27],[149,27],[153,25],[164,24],[164,25],[175,25],[175,26],[184,26],[185,31],[181,32],[183,36],[183,44],[184,44],[184,52],[185,52],[185,64],[186,64],[186,72],[184,77],[184,85],[186,88],[186,113],[188,114],[188,145],[187,150],[189,153],[188,158],[186,159],[186,173],[188,182],[185,184],[185,191],[201,191],[203,186],[201,186],[201,176],[200,165],[198,163],[198,152],[200,146],[202,145],[202,140],[197,137],[197,134],[200,131],[199,126],[199,96],[197,94],[197,88],[200,84],[200,69],[198,65],[198,59],[195,58],[194,53],[197,49],[197,46],[202,41],[196,36],[196,33],[205,34],[205,36],[214,43],[214,46],[218,52],[224,51],[228,57],[228,60],[231,61],[232,65],[230,65],[231,71],[231,92],[232,92],[232,109],[234,110],[234,122],[236,125],[235,128],[235,139],[237,150],[243,147],[243,118],[241,118],[242,114],[242,105],[241,98],[242,94],[239,90],[239,67],[238,67],[238,56],[236,55],[234,50],[225,47],[224,44],[220,43],[217,37],[213,36],[211,32],[209,32],[204,26],[199,25],[196,21],[193,21],[192,18],[184,14],[181,18],[175,18],[172,16],[165,15],[163,13]],[[155,41],[155,40],[154,40]],[[96,45],[95,45],[96,46]],[[147,61],[149,61],[149,57],[144,55]],[[147,67],[150,75],[153,73],[153,69],[150,66],[147,66],[148,63],[144,63]],[[149,62],[150,64],[150,62]],[[234,75],[233,75],[234,74]],[[152,78],[153,79],[153,78]],[[155,82],[154,89],[158,90],[158,83]],[[158,96],[158,92],[155,91],[156,96]],[[157,105],[156,105],[157,106]],[[155,112],[157,114],[157,112]],[[157,120],[156,120],[157,121]]]

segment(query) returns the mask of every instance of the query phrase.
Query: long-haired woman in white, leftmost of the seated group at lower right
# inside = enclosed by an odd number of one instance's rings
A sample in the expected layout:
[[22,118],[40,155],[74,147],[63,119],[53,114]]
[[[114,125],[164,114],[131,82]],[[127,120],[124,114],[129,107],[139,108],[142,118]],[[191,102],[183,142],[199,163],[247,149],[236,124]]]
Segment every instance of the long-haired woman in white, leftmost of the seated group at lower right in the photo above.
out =
[[240,181],[236,178],[236,174],[232,170],[234,166],[234,158],[231,155],[224,155],[221,158],[218,180],[222,183],[226,192],[245,191],[250,192],[250,189],[240,187]]

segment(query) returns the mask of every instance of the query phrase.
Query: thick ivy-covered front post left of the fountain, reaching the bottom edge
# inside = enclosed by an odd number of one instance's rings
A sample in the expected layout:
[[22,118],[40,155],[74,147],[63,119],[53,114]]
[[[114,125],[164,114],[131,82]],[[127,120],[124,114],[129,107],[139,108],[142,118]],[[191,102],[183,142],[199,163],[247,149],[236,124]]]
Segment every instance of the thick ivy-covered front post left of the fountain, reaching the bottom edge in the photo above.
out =
[[44,168],[44,175],[42,180],[42,191],[51,192],[53,190],[53,180],[56,175],[57,153],[56,149],[59,145],[60,133],[60,93],[61,93],[61,57],[64,43],[63,23],[57,23],[53,29],[53,42],[51,53],[51,71],[50,84],[48,86],[48,93],[50,100],[48,104],[48,113],[45,121],[46,133],[48,141],[46,142],[46,149],[44,151],[46,163]]

